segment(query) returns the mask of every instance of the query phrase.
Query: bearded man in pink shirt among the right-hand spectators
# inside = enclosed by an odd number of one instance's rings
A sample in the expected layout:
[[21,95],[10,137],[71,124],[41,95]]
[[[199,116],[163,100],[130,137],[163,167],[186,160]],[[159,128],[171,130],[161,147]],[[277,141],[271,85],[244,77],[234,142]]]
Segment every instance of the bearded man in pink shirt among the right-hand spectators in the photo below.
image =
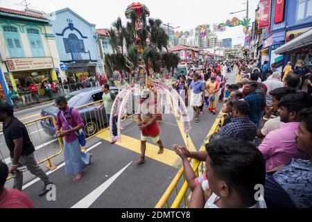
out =
[[293,158],[304,158],[297,150],[295,132],[300,126],[298,113],[311,106],[311,100],[305,92],[288,94],[279,101],[279,116],[283,123],[278,130],[270,132],[259,146],[266,160],[266,171],[288,164]]

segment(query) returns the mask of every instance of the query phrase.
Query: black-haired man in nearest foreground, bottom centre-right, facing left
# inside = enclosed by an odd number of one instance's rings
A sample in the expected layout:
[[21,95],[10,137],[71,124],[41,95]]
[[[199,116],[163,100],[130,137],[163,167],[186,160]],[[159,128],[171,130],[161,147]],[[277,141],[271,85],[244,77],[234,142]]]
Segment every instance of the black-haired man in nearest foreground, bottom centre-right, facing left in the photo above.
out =
[[226,138],[210,142],[206,149],[207,180],[196,185],[189,208],[266,208],[264,200],[255,198],[266,171],[263,156],[254,145]]

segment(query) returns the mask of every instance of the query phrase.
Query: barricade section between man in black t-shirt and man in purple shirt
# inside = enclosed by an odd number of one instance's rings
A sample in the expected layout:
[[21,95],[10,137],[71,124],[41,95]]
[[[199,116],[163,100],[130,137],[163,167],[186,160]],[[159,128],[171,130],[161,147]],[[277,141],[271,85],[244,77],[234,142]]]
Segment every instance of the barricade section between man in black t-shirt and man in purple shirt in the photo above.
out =
[[[55,169],[55,165],[51,159],[60,155],[63,151],[62,139],[55,137],[51,134],[51,130],[55,129],[55,118],[52,116],[41,117],[32,121],[24,123],[28,131],[28,135],[35,146],[35,159],[38,164],[47,162],[46,167],[50,170]],[[50,127],[48,127],[50,126]],[[53,127],[51,127],[53,126]],[[50,131],[50,132],[49,132]],[[10,158],[10,151],[8,150],[2,130],[0,130],[0,137],[2,137],[0,144],[0,158],[10,167],[12,164]],[[8,178],[10,180],[11,177]]]

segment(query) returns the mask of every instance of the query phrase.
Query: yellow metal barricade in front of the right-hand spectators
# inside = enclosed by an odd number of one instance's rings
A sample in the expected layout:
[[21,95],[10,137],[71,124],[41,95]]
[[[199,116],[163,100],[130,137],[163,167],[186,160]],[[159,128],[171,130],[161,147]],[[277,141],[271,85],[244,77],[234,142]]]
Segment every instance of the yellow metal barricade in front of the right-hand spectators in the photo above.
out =
[[[209,142],[209,138],[214,133],[218,132],[218,124],[223,123],[223,113],[220,112],[216,121],[214,122],[214,125],[209,130],[209,133],[205,139],[204,144],[202,144],[202,147],[200,148],[200,151],[205,151],[205,145]],[[193,168],[193,171],[196,173],[196,176],[200,176],[203,173],[205,173],[205,162],[200,162],[198,160],[191,160],[189,159],[189,162],[191,162],[191,166]],[[201,166],[201,167],[200,167]],[[180,187],[180,190],[177,191]],[[171,184],[168,186],[164,194],[162,195],[162,198],[158,201],[155,208],[185,208],[188,207],[188,185],[187,181],[184,178],[184,168],[183,166],[180,168],[180,170],[175,175],[175,178],[173,178]],[[175,190],[175,192],[173,192]],[[191,193],[191,192],[190,192]],[[171,203],[169,203],[169,200],[173,200]],[[182,202],[183,201],[183,202]],[[181,204],[183,205],[181,206]]]

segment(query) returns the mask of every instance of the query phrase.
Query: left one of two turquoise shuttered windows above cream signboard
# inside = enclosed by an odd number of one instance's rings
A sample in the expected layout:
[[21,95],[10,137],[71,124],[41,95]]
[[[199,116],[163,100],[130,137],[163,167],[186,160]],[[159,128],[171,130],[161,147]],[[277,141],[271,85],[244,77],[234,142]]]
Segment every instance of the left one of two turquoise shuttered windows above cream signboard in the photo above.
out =
[[23,58],[24,50],[17,28],[13,26],[3,26],[3,35],[11,58]]

